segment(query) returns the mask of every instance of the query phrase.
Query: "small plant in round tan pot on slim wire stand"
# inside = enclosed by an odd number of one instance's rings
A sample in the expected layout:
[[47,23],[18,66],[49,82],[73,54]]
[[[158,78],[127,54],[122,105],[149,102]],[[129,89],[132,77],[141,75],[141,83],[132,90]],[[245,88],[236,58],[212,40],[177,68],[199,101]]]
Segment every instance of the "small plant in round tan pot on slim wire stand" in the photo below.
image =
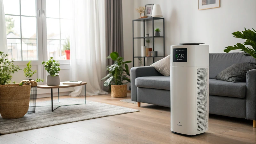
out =
[[28,77],[27,80],[23,80],[20,83],[30,83],[31,84],[31,91],[30,91],[30,102],[29,102],[29,108],[27,114],[31,114],[36,112],[36,97],[37,97],[37,82],[44,82],[44,80],[41,78],[37,78],[36,81],[32,80],[31,77],[36,73],[35,71],[32,71],[31,61],[27,63],[27,68],[24,68],[24,75]]

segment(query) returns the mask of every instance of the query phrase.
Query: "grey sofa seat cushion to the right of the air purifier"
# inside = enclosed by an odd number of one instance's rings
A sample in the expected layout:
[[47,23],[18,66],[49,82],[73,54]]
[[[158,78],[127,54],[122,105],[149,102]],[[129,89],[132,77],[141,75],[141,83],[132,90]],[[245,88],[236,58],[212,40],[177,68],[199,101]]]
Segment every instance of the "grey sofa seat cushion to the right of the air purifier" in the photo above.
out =
[[209,79],[209,94],[235,98],[245,98],[246,83],[232,83],[216,79]]

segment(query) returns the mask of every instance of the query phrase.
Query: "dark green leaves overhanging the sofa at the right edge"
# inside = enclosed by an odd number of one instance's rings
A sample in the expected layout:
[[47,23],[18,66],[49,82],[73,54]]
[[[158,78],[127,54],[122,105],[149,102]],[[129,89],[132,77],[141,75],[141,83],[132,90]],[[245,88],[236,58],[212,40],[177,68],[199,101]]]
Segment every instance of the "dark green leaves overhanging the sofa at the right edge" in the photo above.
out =
[[[245,42],[244,44],[237,43],[234,46],[228,46],[226,47],[227,49],[225,49],[224,52],[228,53],[231,50],[240,49],[240,51],[243,51],[256,59],[256,31],[254,29],[252,31],[250,29],[244,28],[244,31],[242,31],[242,33],[240,31],[237,31],[232,33],[232,35],[234,35],[234,37],[236,38],[245,39]],[[245,45],[251,45],[252,49],[246,47]]]

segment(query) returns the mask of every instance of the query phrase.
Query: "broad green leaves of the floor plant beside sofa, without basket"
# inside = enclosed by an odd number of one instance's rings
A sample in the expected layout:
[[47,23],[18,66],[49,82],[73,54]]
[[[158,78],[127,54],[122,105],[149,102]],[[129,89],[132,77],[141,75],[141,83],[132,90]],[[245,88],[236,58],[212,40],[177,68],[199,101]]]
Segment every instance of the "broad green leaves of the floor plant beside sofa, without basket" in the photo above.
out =
[[124,58],[119,57],[117,52],[112,52],[107,57],[107,59],[112,59],[114,62],[113,65],[107,66],[106,70],[109,72],[107,76],[103,77],[101,80],[105,80],[104,86],[108,85],[123,85],[131,82],[127,77],[130,76],[129,67],[127,63],[132,61],[124,61]]

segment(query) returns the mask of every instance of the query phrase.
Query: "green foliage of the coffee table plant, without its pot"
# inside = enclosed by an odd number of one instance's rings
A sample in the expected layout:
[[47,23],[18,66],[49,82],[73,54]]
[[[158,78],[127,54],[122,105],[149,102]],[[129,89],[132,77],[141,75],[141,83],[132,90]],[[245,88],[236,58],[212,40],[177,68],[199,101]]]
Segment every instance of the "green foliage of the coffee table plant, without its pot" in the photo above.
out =
[[45,70],[49,73],[51,76],[58,76],[58,73],[60,71],[60,63],[59,61],[53,60],[51,57],[50,60],[43,61],[42,64],[44,64]]

